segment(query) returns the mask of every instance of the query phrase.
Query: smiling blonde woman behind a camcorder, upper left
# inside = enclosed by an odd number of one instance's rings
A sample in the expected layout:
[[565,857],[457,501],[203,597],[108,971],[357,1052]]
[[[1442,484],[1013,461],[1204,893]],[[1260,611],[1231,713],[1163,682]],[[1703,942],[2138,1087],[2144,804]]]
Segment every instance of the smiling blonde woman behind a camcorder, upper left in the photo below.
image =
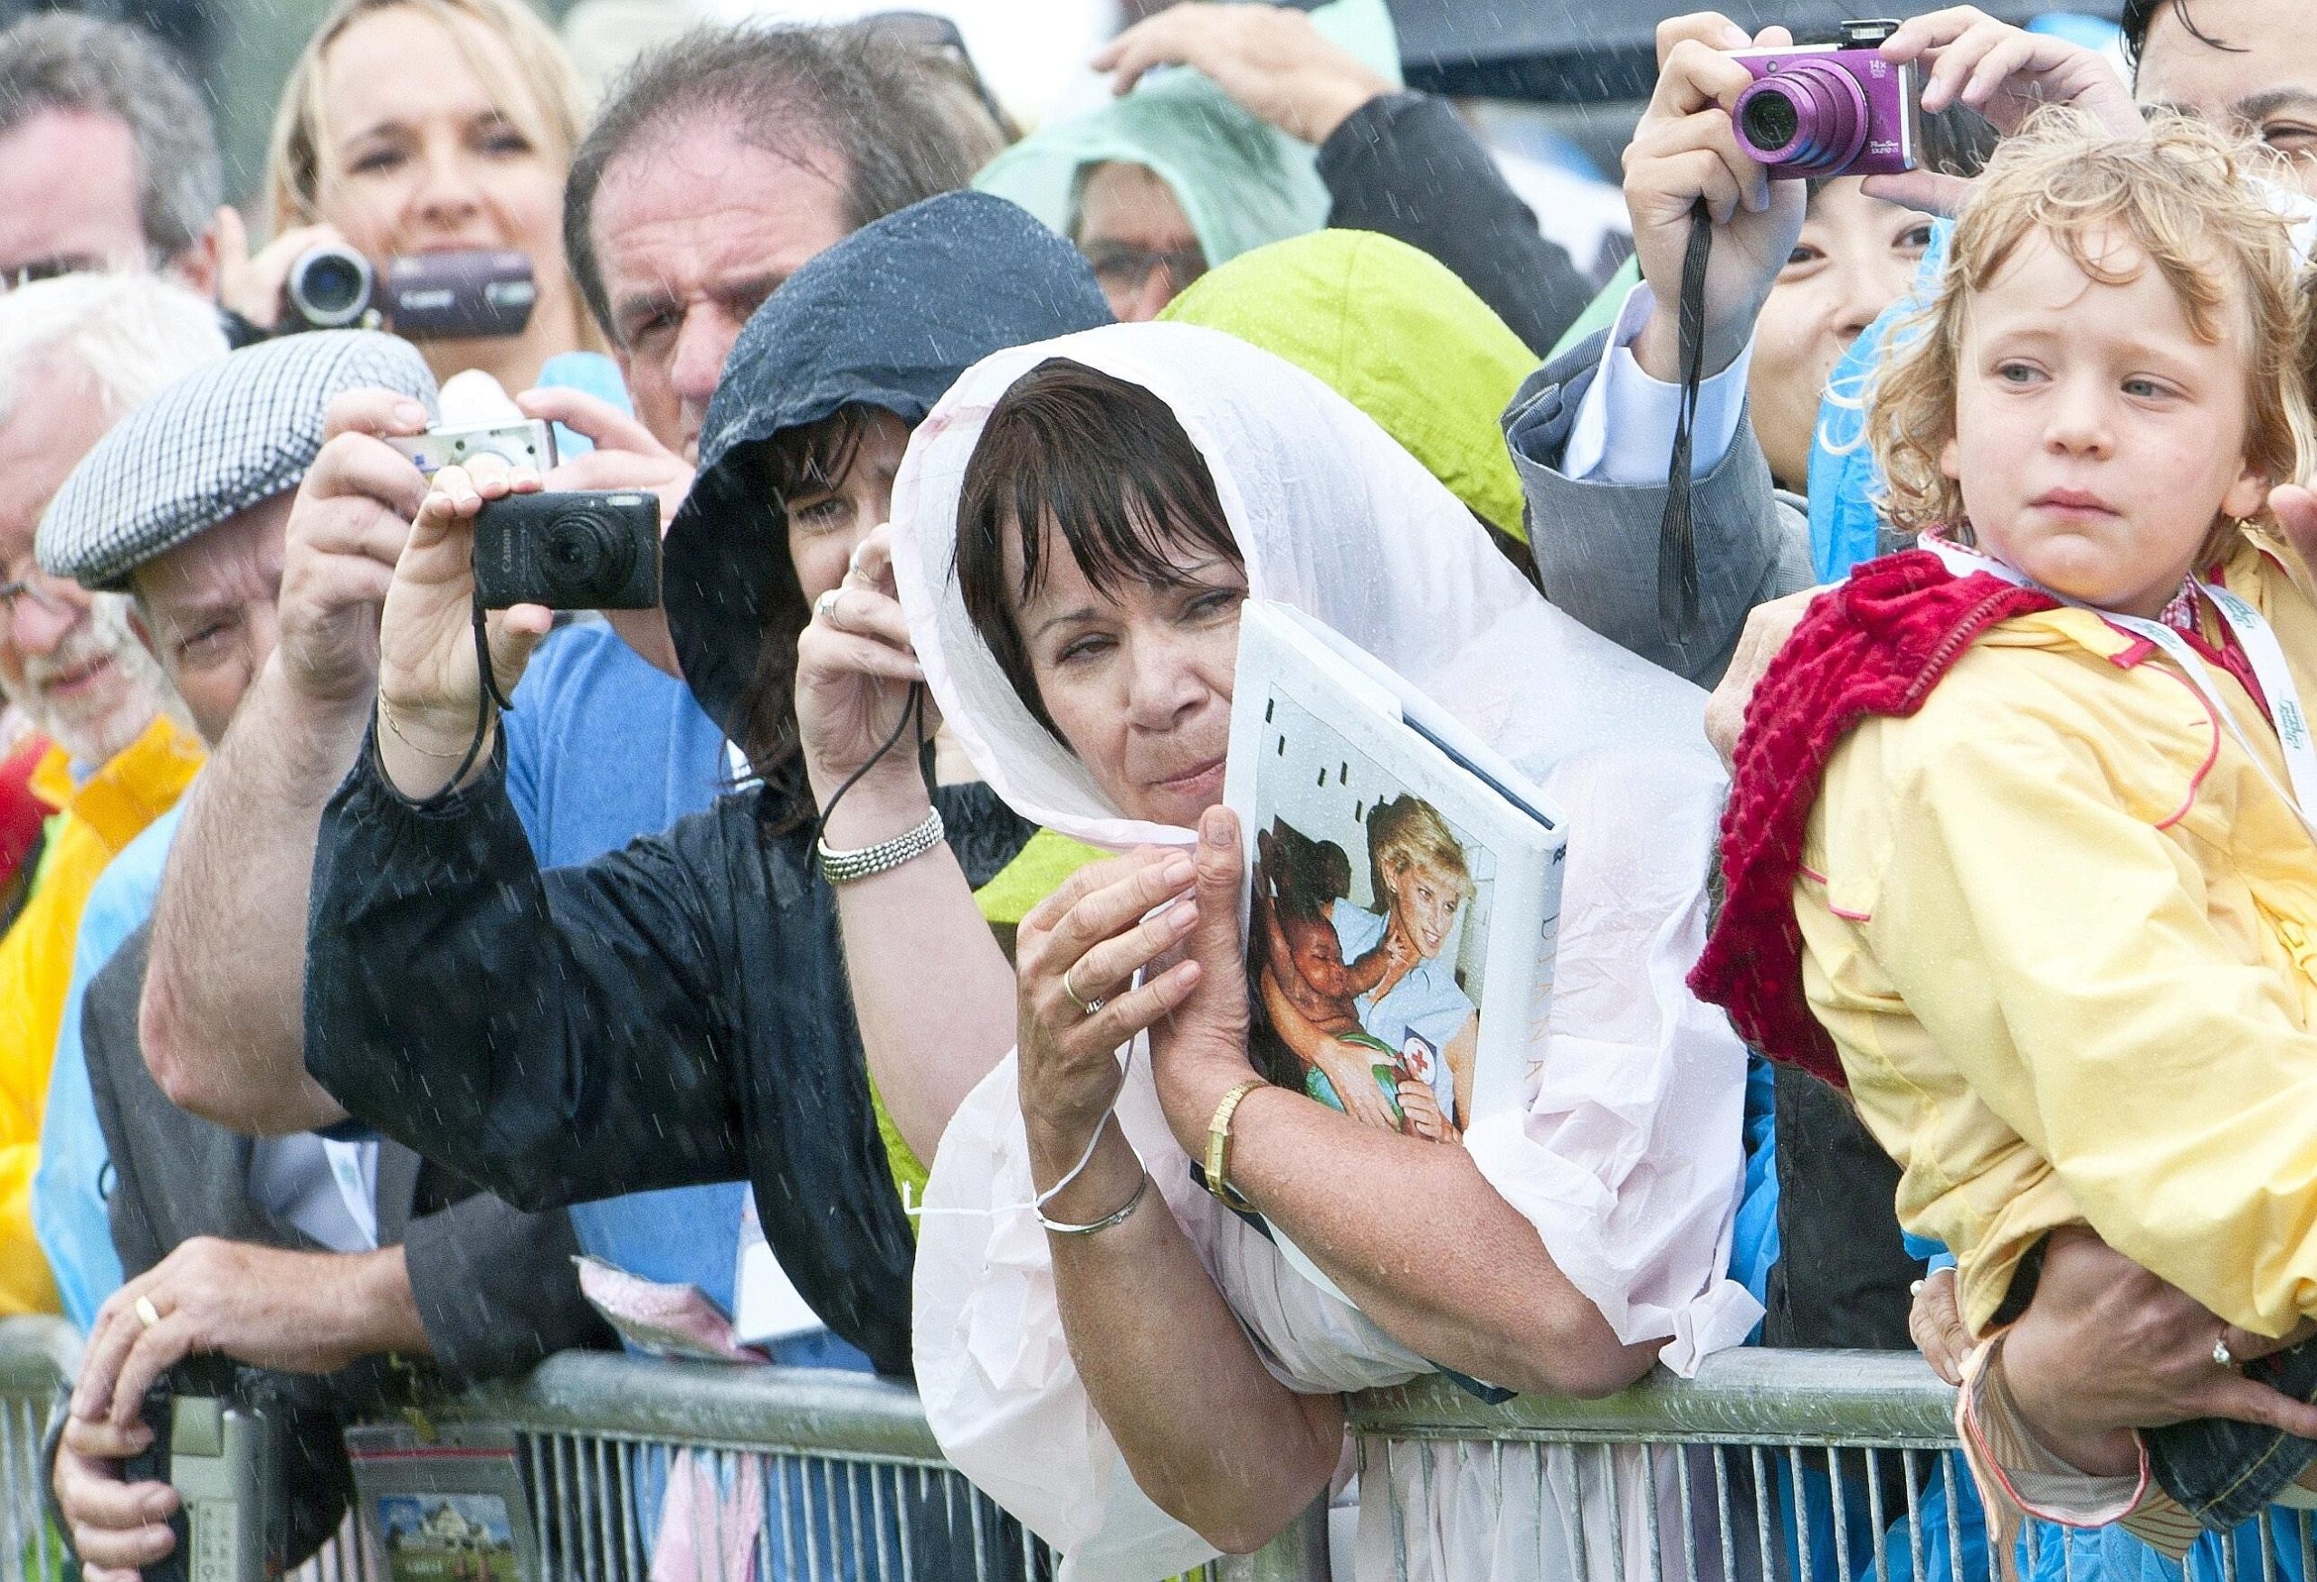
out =
[[[510,391],[540,384],[549,359],[602,350],[563,266],[582,123],[570,58],[524,0],[341,0],[283,86],[266,151],[273,241],[227,269],[227,303],[278,322],[283,280],[317,241],[378,271],[401,255],[512,248],[540,292],[524,334],[419,350],[438,380],[482,368]],[[239,236],[225,243],[243,255]]]

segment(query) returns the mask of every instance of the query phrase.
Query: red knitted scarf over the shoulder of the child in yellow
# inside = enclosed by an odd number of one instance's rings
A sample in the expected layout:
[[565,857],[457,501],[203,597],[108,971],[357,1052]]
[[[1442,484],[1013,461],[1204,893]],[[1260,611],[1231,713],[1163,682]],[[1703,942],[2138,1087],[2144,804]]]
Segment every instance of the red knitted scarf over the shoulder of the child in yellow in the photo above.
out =
[[1997,621],[2057,609],[2000,577],[1956,577],[1925,549],[1870,561],[1812,602],[1745,711],[1722,808],[1722,915],[1689,973],[1698,998],[1773,1061],[1847,1086],[1803,998],[1793,878],[1826,760],[1868,716],[1909,716]]

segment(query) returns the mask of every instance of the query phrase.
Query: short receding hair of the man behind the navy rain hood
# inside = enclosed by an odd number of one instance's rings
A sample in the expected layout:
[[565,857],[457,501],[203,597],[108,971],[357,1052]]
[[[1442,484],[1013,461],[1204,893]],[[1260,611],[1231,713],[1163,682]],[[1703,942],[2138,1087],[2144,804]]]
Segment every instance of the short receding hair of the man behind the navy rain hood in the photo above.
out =
[[614,343],[612,301],[595,257],[595,192],[623,153],[700,120],[728,123],[755,146],[795,158],[829,153],[846,227],[966,185],[989,139],[959,132],[955,93],[934,93],[938,67],[880,30],[827,25],[697,28],[644,53],[612,88],[572,153],[563,188],[563,250],[589,313]]

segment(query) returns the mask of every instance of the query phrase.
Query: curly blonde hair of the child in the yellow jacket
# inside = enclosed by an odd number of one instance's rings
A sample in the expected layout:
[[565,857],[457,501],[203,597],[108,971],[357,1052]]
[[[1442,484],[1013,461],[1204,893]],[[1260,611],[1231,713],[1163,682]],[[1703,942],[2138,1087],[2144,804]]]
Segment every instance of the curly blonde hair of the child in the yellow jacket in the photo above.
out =
[[[2104,285],[2132,280],[2141,264],[2118,271],[2095,248],[2104,236],[2129,236],[2208,345],[2227,334],[2227,315],[2241,315],[2245,459],[2271,482],[2298,482],[2317,461],[2310,292],[2264,176],[2275,181],[2273,155],[2178,113],[2118,137],[2053,107],[2009,139],[1956,222],[1937,296],[1900,324],[1868,394],[1868,445],[1881,463],[1891,523],[1969,542],[1962,489],[1939,470],[1956,438],[1962,336],[1972,299],[2034,234]],[[2266,521],[2266,507],[2257,519]],[[2236,530],[2215,521],[2197,563],[2227,554]]]

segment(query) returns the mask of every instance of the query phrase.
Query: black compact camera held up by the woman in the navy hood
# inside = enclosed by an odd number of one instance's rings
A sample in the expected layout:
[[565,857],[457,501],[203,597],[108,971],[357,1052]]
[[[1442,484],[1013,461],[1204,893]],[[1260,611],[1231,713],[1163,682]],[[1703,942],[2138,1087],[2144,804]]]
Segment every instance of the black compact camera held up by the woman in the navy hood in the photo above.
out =
[[510,493],[475,514],[484,609],[651,609],[660,602],[660,498],[633,489]]

